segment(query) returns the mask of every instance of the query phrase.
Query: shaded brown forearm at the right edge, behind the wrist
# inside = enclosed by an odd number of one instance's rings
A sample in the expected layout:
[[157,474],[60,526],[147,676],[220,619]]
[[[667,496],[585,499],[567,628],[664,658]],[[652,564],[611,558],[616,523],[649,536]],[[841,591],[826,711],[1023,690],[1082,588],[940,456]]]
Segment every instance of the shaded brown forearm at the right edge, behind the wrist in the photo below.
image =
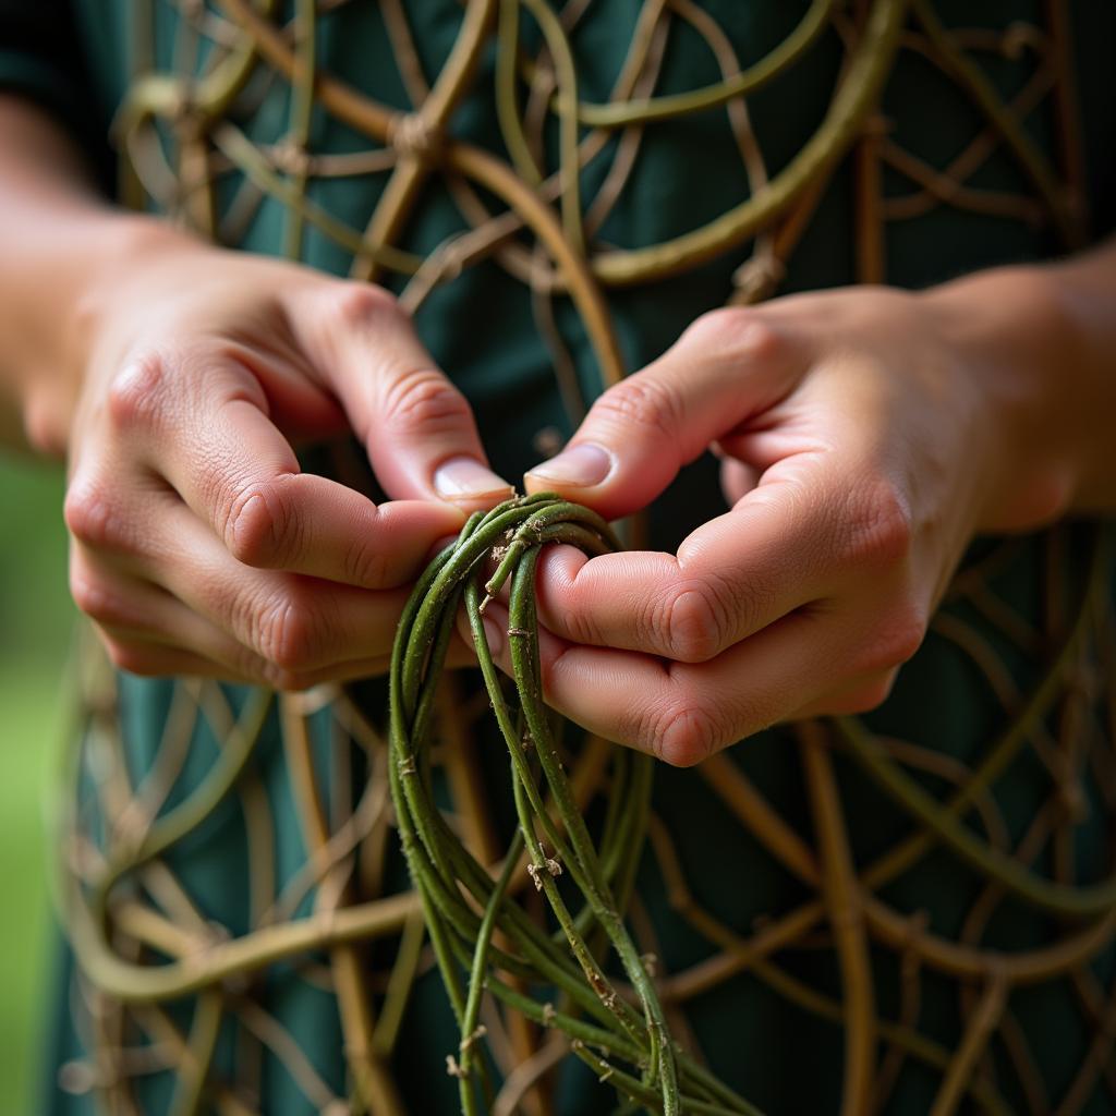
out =
[[1003,403],[1009,494],[984,526],[1116,510],[1116,243],[923,297]]

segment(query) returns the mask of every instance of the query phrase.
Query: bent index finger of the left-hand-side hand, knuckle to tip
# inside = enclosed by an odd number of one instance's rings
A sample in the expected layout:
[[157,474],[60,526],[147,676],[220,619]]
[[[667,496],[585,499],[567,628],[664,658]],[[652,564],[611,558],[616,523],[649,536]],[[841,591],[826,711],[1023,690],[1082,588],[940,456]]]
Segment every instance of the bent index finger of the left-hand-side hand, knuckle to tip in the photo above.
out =
[[248,565],[389,588],[413,579],[434,540],[461,526],[444,504],[377,508],[301,473],[259,382],[228,350],[142,358],[110,401],[119,435],[138,442],[151,468]]

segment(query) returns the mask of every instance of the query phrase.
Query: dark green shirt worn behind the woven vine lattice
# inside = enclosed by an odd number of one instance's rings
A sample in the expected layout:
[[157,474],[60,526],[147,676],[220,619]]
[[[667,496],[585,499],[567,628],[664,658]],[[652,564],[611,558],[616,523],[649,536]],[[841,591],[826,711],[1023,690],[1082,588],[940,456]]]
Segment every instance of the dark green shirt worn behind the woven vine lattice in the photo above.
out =
[[[387,6],[354,0],[336,10],[323,7],[326,11],[318,20],[316,44],[320,70],[389,106],[410,108],[406,83],[385,25]],[[450,54],[461,7],[455,0],[407,0],[403,7],[421,69],[430,80]],[[608,100],[642,7],[634,0],[597,0],[577,23],[570,41],[583,102]],[[835,22],[801,57],[748,98],[751,126],[771,179],[792,164],[826,117],[841,73],[841,33],[850,39],[857,35],[853,11],[846,7],[856,8],[840,6]],[[1056,49],[1060,40],[1052,45],[1045,20],[1048,7],[1066,10],[1068,52],[1060,60]],[[69,18],[65,8],[40,4],[32,9],[16,0],[0,3],[0,85],[37,99],[65,121],[89,151],[106,183],[113,180],[124,191],[131,175],[114,175],[105,136],[114,117],[117,138],[126,134],[126,114],[121,109],[131,83],[150,73],[204,74],[222,49],[210,37],[220,44],[227,25],[209,12],[201,17],[199,30],[191,31],[179,8],[194,10],[194,6],[161,0],[150,6],[75,0]],[[1068,196],[1061,189],[1064,180],[1076,183],[1079,205],[1070,206],[1070,222],[1080,218],[1081,241],[1106,234],[1116,198],[1112,143],[1116,136],[1112,74],[1116,9],[1087,0],[1051,6],[1026,0],[980,6],[940,0],[935,8],[947,28],[968,29],[959,30],[953,41],[981,80],[998,97],[1016,104],[1021,132],[1050,167],[1058,198]],[[196,10],[205,9],[196,6]],[[684,93],[720,80],[711,44],[718,49],[731,45],[742,68],[756,64],[792,32],[805,10],[805,4],[785,0],[702,0],[698,15],[690,18],[685,6],[672,9],[668,35],[653,47],[663,51],[655,94]],[[285,18],[290,15],[285,12]],[[723,29],[723,42],[710,37],[703,15]],[[989,122],[979,97],[942,65],[916,27],[913,20],[908,22],[886,79],[882,107],[874,117],[872,134],[878,137],[877,155],[883,157],[866,158],[878,174],[875,204],[886,218],[879,224],[879,253],[866,253],[858,234],[864,212],[859,192],[866,189],[870,198],[874,187],[870,181],[865,187],[860,176],[868,172],[857,156],[848,155],[827,176],[816,203],[799,208],[798,228],[788,241],[792,248],[782,252],[781,267],[771,272],[777,280],[776,294],[838,286],[865,277],[916,288],[970,270],[1042,259],[1065,250],[1065,237],[1024,161],[994,133],[988,134],[987,142],[981,138]],[[525,57],[537,57],[539,29],[526,16],[520,37]],[[507,160],[493,94],[496,61],[490,46],[449,132]],[[522,86],[520,96],[522,99]],[[292,118],[297,119],[295,108],[289,84],[261,60],[239,92],[228,119],[270,151],[290,134]],[[1064,144],[1065,118],[1075,122],[1079,146]],[[152,209],[182,208],[174,185],[180,134],[173,122],[160,121],[134,137],[132,152],[140,156],[141,177],[148,187],[144,204]],[[548,171],[554,169],[559,142],[558,124],[551,121],[543,137]],[[314,155],[336,156],[376,145],[319,104],[309,119],[306,146]],[[584,169],[580,185],[587,206],[608,181],[617,150],[614,140]],[[224,165],[220,156],[211,166],[218,171],[219,237],[230,247],[280,254],[292,237],[285,202],[267,194],[254,196],[246,175]],[[273,173],[282,179],[288,171],[289,166],[280,163]],[[951,171],[952,179],[943,177]],[[359,232],[372,218],[386,181],[383,172],[311,176],[308,198],[316,212]],[[431,176],[397,247],[426,257],[448,237],[466,228],[452,186],[441,172]],[[738,205],[756,189],[754,171],[750,180],[723,107],[650,124],[631,176],[594,243],[598,249],[639,249],[683,235]],[[499,199],[485,191],[479,196],[493,211],[502,208]],[[187,215],[189,209],[186,205]],[[786,217],[787,212],[781,213],[764,231],[775,230],[777,240],[788,235]],[[531,249],[536,238],[530,231],[520,232],[517,243]],[[756,249],[757,242],[745,240],[680,275],[607,288],[607,306],[627,369],[654,359],[690,321],[722,305],[734,290],[738,269]],[[328,231],[308,223],[300,258],[316,268],[345,275],[353,252]],[[396,289],[404,285],[400,277],[387,276],[385,281]],[[487,261],[440,286],[417,315],[423,339],[472,402],[493,465],[509,477],[520,474],[543,455],[540,448],[568,435],[576,425],[577,405],[567,405],[576,393],[567,389],[564,398],[554,372],[560,353],[568,354],[584,398],[590,400],[600,389],[598,360],[576,308],[561,295],[548,305],[552,327],[546,325],[545,316],[540,324],[539,306],[532,305],[531,292],[520,278]],[[560,337],[559,355],[548,344],[551,333]],[[338,468],[337,459],[333,460],[328,468]],[[355,468],[352,461],[349,465]],[[696,523],[723,510],[715,477],[714,463],[702,459],[656,502],[651,512],[655,546],[675,546]],[[371,483],[371,479],[365,480]],[[943,606],[944,619],[940,618],[924,647],[903,670],[892,698],[866,719],[881,740],[892,743],[895,757],[917,783],[935,798],[947,798],[955,781],[988,754],[1057,660],[1081,607],[1097,533],[1096,525],[1083,523],[1042,536],[975,546],[966,566],[971,573],[959,578],[956,590]],[[1104,561],[1107,565],[1100,580],[1109,584],[1110,559]],[[1112,870],[1110,785],[1107,792],[1104,789],[1105,776],[1110,779],[1112,773],[1113,725],[1106,720],[1113,708],[1112,632],[1110,613],[1105,614],[1101,606],[1098,615],[1103,616],[1104,631],[1085,624],[1084,643],[1071,648],[1070,655],[1071,665],[1078,668],[1056,676],[1056,690],[1017,757],[998,773],[991,791],[979,802],[980,809],[966,819],[971,833],[982,841],[1010,853],[1020,843],[1026,845],[1031,822],[1059,787],[1067,793],[1067,788],[1071,789],[1077,795],[1076,812],[1060,818],[1056,836],[1040,834],[1035,838],[1038,847],[1027,853],[1027,863],[1039,875],[1068,870],[1069,878],[1079,882],[1100,879]],[[372,684],[367,691],[367,710],[378,720],[382,687]],[[233,687],[227,687],[227,693],[233,706],[240,708],[244,693]],[[121,677],[115,713],[133,781],[151,769],[181,694],[181,683]],[[365,770],[363,756],[341,763],[330,750],[334,730],[328,710],[318,718],[317,728],[324,780],[338,766],[352,767],[357,775]],[[478,728],[478,734],[492,735],[483,727]],[[164,809],[182,801],[212,769],[220,753],[218,735],[204,715],[196,716],[186,761]],[[96,796],[90,790],[96,779],[94,737],[90,733],[79,749],[79,785],[87,804],[83,825],[97,835],[104,819],[98,818]],[[493,739],[481,743],[491,745],[489,754],[498,754]],[[1076,764],[1068,779],[1059,775],[1062,752]],[[792,733],[763,733],[730,754],[735,769],[812,849],[811,815]],[[920,826],[847,754],[838,750],[834,760],[853,858],[863,869]],[[503,783],[497,775],[489,775],[492,809],[507,818],[507,804],[499,801]],[[270,804],[275,877],[281,885],[302,866],[306,852],[298,836],[273,719],[253,757],[251,779]],[[679,881],[684,882],[691,903],[718,921],[722,937],[734,935],[738,940],[761,934],[764,925],[809,902],[816,891],[733,816],[730,787],[711,783],[701,770],[664,768],[656,780],[657,831],[673,845],[679,876],[672,891],[664,884],[664,865],[670,867],[670,858],[664,859],[661,847],[650,853],[639,875],[641,904],[654,927],[661,972],[696,975],[700,970],[694,966],[725,946],[708,922],[704,929],[694,922],[676,886]],[[252,929],[248,882],[259,870],[258,850],[246,836],[247,810],[243,798],[233,796],[165,857],[202,916],[233,935]],[[405,885],[397,855],[388,856],[388,877],[393,886]],[[140,889],[137,894],[144,893]],[[1060,941],[1074,932],[1070,923],[1018,896],[988,889],[963,857],[940,844],[913,860],[877,895],[902,920],[924,925],[953,945],[1010,954]],[[307,901],[300,912],[309,910]],[[375,980],[372,969],[382,969],[389,960],[387,953],[383,947],[371,951],[369,981]],[[77,1114],[94,1110],[92,1093],[70,1095],[56,1088],[54,1070],[75,1060],[88,1061],[97,1067],[102,1076],[96,1079],[104,1085],[113,1078],[113,1036],[126,1047],[144,1046],[151,1038],[136,1021],[138,1017],[128,1011],[114,1014],[116,1009],[109,1008],[98,1022],[96,1010],[90,1008],[105,1008],[105,1002],[79,979],[67,956],[57,992],[47,1105],[50,1112]],[[312,960],[315,965],[309,968],[296,963],[272,966],[243,988],[229,990],[211,1081],[240,1087],[240,1083],[251,1080],[251,1089],[241,1094],[249,1108],[294,1116],[317,1110],[319,1104],[310,1095],[312,1089],[307,1093],[305,1075],[300,1076],[291,1057],[283,1055],[281,1042],[272,1036],[261,1047],[258,1031],[246,1021],[244,1003],[269,1012],[328,1089],[346,1095],[337,1007],[324,985],[320,959]],[[838,1110],[841,977],[828,925],[825,920],[817,922],[809,934],[795,936],[788,947],[777,947],[761,961],[742,963],[739,971],[681,1001],[674,1018],[677,1021],[684,1014],[685,1026],[679,1033],[689,1033],[718,1074],[772,1113]],[[1101,940],[1076,973],[1011,985],[1007,1011],[975,1066],[974,1079],[984,1084],[981,1096],[985,1101],[999,1097],[1008,1110],[1055,1110],[1076,1088],[1080,1110],[1116,1109],[1110,1074],[1093,1072],[1089,1061],[1090,1057],[1107,1061],[1110,1069],[1098,1019],[1112,1017],[1113,962],[1114,951]],[[902,940],[888,939],[878,927],[872,933],[872,965],[875,1010],[882,1024],[877,1050],[882,1107],[897,1113],[926,1112],[943,1083],[943,1068],[935,1065],[933,1051],[959,1047],[983,987],[980,981],[959,979],[949,964],[935,964],[905,951]],[[381,992],[375,987],[377,1006]],[[167,1010],[180,1029],[187,1029],[194,1018],[194,1000],[187,997]],[[114,1027],[121,1030],[113,1031]],[[905,1045],[889,1038],[896,1028],[907,1036]],[[917,1047],[920,1037],[922,1047]],[[1094,1043],[1100,1046],[1090,1055]],[[455,1083],[443,1074],[444,1056],[455,1046],[436,972],[427,972],[410,1003],[393,1064],[410,1112],[455,1110]],[[246,1069],[249,1064],[254,1070]],[[74,1065],[61,1077],[71,1084],[85,1080],[74,1072]],[[160,1113],[169,1110],[174,1083],[172,1072],[155,1067],[135,1075],[128,1088],[140,1110]],[[203,1109],[217,1096],[208,1093]],[[598,1087],[576,1066],[562,1071],[559,1097],[562,1114],[609,1112],[615,1104],[607,1088]]]

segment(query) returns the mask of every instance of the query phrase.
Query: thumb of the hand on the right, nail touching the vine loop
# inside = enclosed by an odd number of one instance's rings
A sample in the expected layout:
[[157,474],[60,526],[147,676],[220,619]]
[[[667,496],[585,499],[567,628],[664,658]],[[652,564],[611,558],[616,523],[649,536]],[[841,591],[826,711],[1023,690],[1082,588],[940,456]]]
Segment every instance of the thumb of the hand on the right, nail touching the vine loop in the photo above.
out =
[[617,519],[646,507],[716,439],[790,387],[789,344],[754,311],[699,318],[657,360],[594,403],[569,444],[529,470],[529,492],[552,489]]

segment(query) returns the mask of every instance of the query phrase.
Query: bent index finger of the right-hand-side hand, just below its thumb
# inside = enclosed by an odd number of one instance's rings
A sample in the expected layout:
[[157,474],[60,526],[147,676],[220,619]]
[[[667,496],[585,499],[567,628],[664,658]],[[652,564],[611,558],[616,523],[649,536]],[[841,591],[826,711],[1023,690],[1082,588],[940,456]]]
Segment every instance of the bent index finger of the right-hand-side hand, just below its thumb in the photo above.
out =
[[576,643],[696,663],[865,585],[873,613],[893,598],[905,609],[906,517],[878,485],[850,483],[855,475],[825,452],[787,459],[676,555],[549,548],[537,578],[540,618]]

